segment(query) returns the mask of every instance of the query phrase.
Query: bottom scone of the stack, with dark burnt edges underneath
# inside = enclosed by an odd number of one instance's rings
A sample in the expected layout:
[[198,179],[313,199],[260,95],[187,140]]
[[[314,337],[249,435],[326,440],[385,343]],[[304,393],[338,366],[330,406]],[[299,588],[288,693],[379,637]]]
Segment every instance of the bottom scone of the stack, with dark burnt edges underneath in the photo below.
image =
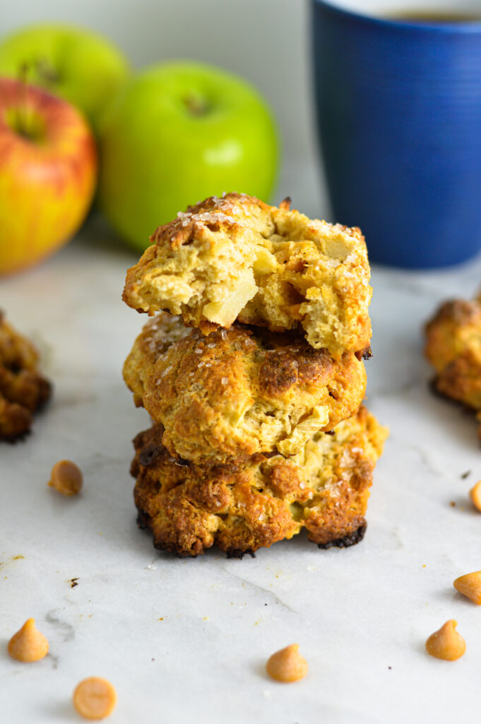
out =
[[237,465],[197,466],[171,458],[162,434],[154,425],[137,435],[131,469],[138,523],[152,529],[156,548],[195,556],[216,545],[238,557],[303,527],[321,548],[362,539],[387,436],[366,408],[289,459],[257,454]]

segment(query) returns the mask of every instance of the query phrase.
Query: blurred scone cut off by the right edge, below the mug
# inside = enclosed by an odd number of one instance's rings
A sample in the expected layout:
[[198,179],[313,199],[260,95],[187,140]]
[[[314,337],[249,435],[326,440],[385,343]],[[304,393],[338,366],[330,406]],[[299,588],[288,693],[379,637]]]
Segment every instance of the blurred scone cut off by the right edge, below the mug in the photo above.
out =
[[443,303],[425,332],[425,355],[437,372],[436,390],[481,411],[481,300]]

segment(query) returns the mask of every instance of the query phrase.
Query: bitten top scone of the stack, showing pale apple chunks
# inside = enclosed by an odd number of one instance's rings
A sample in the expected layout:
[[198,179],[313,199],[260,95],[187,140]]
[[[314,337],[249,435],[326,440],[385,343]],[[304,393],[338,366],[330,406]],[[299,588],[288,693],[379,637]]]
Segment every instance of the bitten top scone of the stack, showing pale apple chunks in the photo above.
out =
[[[299,329],[339,359],[369,348],[372,290],[359,229],[239,193],[212,196],[158,227],[127,272],[124,301],[181,314],[206,334],[234,321]],[[303,332],[304,330],[304,332]]]

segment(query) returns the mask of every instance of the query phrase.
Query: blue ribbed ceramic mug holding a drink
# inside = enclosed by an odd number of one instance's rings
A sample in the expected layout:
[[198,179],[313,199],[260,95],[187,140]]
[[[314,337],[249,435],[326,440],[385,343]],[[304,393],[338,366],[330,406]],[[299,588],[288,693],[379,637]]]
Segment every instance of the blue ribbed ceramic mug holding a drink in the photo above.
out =
[[[417,6],[443,7],[442,0]],[[461,22],[393,19],[386,8],[407,14],[402,0],[385,0],[384,15],[370,7],[312,0],[333,221],[361,227],[371,261],[456,264],[481,248],[480,4],[478,20]],[[469,12],[459,0],[450,7]]]

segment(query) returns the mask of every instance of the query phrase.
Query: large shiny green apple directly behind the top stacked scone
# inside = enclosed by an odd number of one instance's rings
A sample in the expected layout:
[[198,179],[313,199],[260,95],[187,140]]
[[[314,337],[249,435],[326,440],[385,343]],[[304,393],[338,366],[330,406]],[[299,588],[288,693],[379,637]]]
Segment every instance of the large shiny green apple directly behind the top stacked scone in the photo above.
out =
[[156,65],[132,79],[99,140],[101,207],[139,250],[187,205],[224,191],[266,201],[276,177],[277,132],[263,98],[196,62]]

